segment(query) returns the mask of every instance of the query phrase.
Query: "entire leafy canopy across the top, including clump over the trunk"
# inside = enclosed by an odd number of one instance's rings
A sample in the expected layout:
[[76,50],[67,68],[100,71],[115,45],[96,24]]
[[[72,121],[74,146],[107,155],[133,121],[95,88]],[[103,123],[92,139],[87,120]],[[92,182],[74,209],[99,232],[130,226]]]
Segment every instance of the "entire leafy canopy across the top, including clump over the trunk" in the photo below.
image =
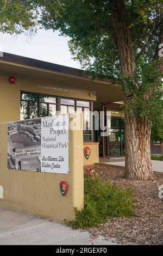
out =
[[[145,117],[154,126],[162,113],[162,84],[154,56],[160,44],[162,0],[125,0],[124,19],[128,22],[134,57],[135,81],[121,74],[111,0],[27,0],[0,3],[0,31],[10,34],[33,33],[38,27],[59,30],[69,36],[74,59],[95,78],[116,77],[129,95],[124,111]],[[123,37],[123,34],[122,34]],[[125,41],[125,40],[123,40]],[[124,45],[125,46],[125,45]],[[135,59],[134,58],[134,59]],[[125,58],[123,58],[123,62]],[[126,66],[130,60],[126,59]],[[122,63],[121,63],[122,65]]]

